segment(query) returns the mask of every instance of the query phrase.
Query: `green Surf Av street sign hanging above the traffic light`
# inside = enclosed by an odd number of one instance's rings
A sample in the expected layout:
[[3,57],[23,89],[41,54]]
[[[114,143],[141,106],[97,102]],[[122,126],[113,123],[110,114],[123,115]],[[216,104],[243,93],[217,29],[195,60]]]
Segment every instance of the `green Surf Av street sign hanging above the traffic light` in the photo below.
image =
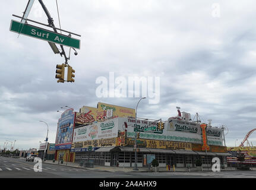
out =
[[30,37],[35,37],[36,39],[80,49],[80,40],[78,39],[74,39],[63,34],[58,34],[50,30],[41,29],[30,24],[23,24],[15,20],[11,20],[10,31],[18,34],[24,34]]

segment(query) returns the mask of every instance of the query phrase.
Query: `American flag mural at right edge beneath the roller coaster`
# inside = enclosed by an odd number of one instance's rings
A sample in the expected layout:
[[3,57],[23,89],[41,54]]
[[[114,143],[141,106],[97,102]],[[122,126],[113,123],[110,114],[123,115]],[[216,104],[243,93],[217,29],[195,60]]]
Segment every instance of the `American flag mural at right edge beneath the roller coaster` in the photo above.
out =
[[[230,157],[227,157],[227,163],[243,163],[243,164],[256,164],[256,157],[248,154],[248,151],[227,151],[227,153],[231,154]],[[239,153],[245,155],[244,162],[239,162],[237,157]]]

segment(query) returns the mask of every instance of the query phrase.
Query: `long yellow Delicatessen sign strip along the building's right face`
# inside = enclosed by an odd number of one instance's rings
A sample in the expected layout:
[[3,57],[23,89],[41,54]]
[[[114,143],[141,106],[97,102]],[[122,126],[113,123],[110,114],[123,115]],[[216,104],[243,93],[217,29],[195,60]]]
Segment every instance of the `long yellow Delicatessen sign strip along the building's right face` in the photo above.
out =
[[[127,144],[134,145],[134,139],[128,138]],[[174,141],[137,140],[137,144],[146,148],[192,150],[191,143],[174,142]]]

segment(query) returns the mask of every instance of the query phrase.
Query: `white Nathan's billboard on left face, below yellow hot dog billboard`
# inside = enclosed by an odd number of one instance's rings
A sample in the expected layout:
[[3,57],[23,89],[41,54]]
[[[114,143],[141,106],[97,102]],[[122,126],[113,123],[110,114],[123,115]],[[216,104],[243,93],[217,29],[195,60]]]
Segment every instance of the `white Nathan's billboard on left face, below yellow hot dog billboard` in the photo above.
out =
[[118,137],[118,118],[108,119],[104,122],[94,122],[91,125],[74,129],[73,143]]

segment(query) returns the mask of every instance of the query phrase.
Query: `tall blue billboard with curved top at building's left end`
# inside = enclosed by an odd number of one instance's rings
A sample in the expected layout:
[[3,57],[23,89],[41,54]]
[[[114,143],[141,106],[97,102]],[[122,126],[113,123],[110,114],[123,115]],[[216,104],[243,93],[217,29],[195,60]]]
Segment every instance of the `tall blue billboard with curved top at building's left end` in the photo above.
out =
[[75,113],[73,112],[73,109],[68,109],[62,113],[56,132],[56,150],[67,149],[71,147],[74,118]]

